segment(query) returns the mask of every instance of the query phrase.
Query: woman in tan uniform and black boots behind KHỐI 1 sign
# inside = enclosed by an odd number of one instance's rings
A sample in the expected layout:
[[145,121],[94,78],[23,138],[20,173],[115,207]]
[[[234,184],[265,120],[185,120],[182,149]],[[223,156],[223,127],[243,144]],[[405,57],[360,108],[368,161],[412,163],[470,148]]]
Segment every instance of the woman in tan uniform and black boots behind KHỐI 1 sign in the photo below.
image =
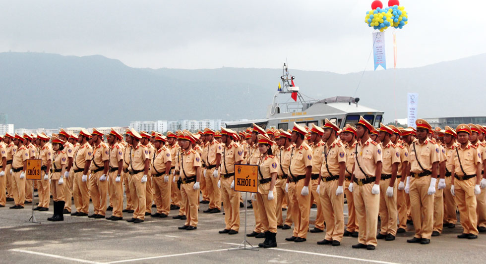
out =
[[[272,145],[275,144],[266,134],[258,135],[258,150],[261,156],[258,158],[258,203],[260,219],[265,230],[265,241],[258,244],[262,248],[274,248],[277,246],[277,199],[275,181],[278,172],[278,160],[272,154]],[[254,199],[253,199],[254,200]]]

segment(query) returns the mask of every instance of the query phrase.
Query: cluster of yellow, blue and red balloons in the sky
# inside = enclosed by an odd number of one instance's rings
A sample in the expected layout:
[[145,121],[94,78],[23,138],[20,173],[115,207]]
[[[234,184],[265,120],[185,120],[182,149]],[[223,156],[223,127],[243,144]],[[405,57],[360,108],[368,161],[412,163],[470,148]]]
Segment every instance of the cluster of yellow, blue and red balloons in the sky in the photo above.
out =
[[366,11],[364,22],[373,29],[383,32],[388,27],[403,28],[408,23],[408,14],[405,7],[400,6],[398,0],[389,0],[389,7],[383,8],[379,0],[371,3],[370,11]]

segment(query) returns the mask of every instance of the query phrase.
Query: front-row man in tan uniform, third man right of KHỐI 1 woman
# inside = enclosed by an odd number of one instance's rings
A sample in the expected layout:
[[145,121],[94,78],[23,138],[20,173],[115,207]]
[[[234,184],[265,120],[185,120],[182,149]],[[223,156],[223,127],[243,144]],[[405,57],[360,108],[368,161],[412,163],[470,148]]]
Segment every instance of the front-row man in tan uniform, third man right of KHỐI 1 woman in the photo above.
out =
[[377,245],[382,149],[370,138],[374,127],[360,116],[356,133],[360,142],[355,147],[355,167],[348,189],[353,192],[356,216],[360,227],[358,244],[354,249],[374,250]]

